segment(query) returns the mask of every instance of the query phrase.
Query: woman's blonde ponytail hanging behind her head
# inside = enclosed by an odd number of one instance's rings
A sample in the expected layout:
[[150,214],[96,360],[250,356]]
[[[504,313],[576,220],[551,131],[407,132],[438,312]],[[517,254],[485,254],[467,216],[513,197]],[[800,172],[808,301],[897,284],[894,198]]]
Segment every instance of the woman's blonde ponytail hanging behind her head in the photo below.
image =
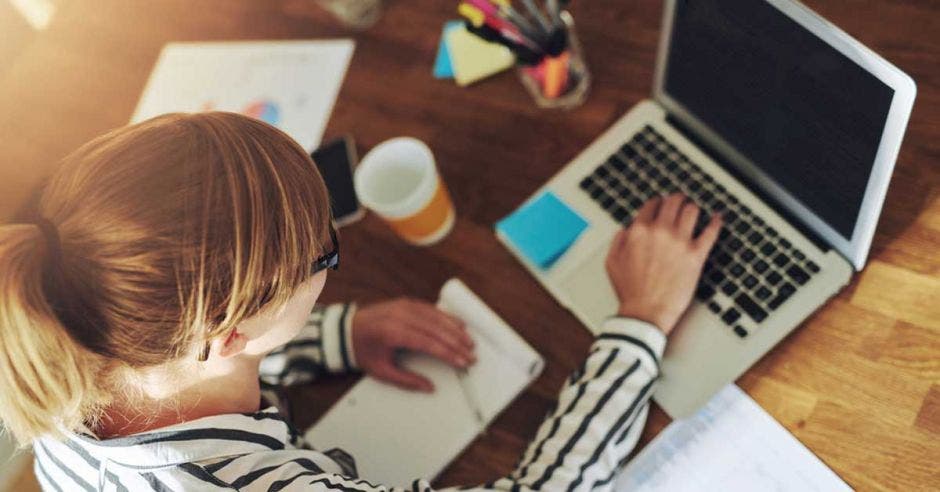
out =
[[43,294],[51,253],[38,227],[0,226],[0,421],[21,446],[81,428],[102,403],[95,357]]

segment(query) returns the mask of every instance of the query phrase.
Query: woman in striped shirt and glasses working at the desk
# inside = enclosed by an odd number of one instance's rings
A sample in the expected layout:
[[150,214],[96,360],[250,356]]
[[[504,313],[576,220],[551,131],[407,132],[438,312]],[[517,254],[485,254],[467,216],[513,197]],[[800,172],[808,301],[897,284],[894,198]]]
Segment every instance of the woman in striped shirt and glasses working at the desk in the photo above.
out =
[[[717,236],[692,237],[697,214],[670,196],[617,236],[619,313],[519,467],[481,488],[610,482]],[[103,135],[0,227],[0,419],[46,490],[384,489],[304,442],[278,389],[361,369],[430,391],[395,351],[462,367],[472,342],[419,301],[315,307],[338,262],[323,181],[277,129],[203,113]]]

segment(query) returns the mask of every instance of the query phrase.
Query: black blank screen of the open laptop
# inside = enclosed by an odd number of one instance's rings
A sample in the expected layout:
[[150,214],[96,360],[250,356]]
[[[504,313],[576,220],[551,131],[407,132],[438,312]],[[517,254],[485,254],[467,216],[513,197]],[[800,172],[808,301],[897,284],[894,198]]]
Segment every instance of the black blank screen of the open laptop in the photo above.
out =
[[675,9],[665,92],[851,238],[893,89],[767,2]]

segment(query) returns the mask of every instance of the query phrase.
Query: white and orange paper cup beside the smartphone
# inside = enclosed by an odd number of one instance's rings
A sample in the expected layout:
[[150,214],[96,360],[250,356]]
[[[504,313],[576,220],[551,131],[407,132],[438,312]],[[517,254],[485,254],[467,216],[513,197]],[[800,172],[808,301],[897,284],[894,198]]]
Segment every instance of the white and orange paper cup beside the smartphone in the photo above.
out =
[[424,142],[411,137],[386,140],[359,163],[356,194],[403,239],[430,245],[454,226],[454,204]]

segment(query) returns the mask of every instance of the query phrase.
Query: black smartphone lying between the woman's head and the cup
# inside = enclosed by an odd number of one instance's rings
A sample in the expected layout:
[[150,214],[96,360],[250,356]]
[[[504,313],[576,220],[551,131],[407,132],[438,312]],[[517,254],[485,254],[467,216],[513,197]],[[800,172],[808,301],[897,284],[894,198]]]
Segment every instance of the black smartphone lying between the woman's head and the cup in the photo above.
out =
[[310,157],[320,170],[330,190],[330,206],[337,226],[355,222],[365,215],[365,209],[356,197],[353,168],[358,163],[356,145],[350,136],[337,138],[314,150]]

